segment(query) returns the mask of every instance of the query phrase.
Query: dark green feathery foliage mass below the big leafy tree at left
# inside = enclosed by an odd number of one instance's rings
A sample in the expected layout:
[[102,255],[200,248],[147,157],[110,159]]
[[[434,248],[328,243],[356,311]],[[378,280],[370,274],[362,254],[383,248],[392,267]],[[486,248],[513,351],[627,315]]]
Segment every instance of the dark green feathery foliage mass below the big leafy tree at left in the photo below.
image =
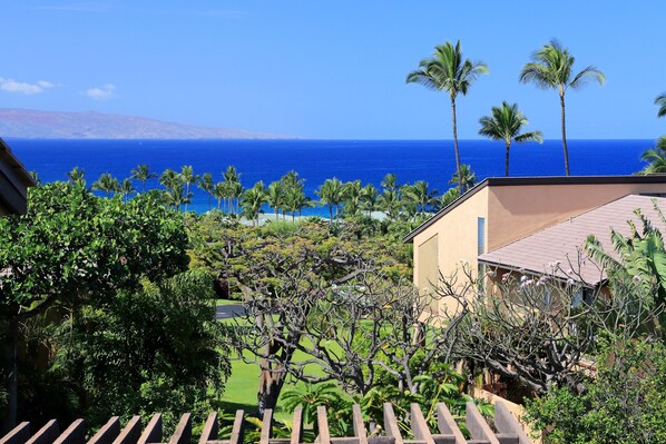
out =
[[51,339],[53,365],[78,382],[90,423],[158,411],[172,424],[184,411],[203,421],[208,392],[219,398],[231,369],[212,289],[207,275],[190,270],[66,317]]

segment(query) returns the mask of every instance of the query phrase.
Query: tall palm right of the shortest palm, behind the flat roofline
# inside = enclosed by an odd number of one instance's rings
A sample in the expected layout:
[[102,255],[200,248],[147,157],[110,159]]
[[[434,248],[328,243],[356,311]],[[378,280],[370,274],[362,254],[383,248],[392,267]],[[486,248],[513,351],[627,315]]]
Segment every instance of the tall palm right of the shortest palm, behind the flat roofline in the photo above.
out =
[[522,67],[520,81],[532,82],[538,88],[557,89],[559,93],[562,127],[562,149],[565,151],[565,170],[569,176],[569,150],[567,149],[567,127],[565,93],[567,89],[578,89],[596,80],[604,85],[606,76],[594,66],[585,67],[581,71],[572,75],[575,58],[557,40],[550,40],[540,50],[532,53],[532,61]]

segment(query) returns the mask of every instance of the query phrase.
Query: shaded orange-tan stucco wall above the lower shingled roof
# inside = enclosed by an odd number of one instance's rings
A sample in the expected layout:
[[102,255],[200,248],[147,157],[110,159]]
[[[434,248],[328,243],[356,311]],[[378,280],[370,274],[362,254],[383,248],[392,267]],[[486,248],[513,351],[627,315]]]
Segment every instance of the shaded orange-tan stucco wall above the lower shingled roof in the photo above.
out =
[[[663,184],[572,184],[488,187],[488,251],[620,197],[666,193]],[[474,228],[476,229],[476,228]]]

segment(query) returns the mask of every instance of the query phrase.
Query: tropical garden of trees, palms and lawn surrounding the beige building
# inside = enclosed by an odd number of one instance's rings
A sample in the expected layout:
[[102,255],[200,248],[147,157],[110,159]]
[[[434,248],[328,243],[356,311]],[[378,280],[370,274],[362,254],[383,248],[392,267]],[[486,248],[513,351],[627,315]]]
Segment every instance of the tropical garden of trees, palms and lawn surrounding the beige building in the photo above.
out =
[[[554,40],[519,76],[558,91],[567,175],[565,95],[605,80],[574,61]],[[569,286],[569,299],[543,310],[548,276],[507,278],[497,294],[464,267],[462,293],[449,277],[428,298],[412,285],[403,237],[477,182],[459,152],[456,106],[487,72],[458,41],[407,77],[449,95],[456,171],[442,194],[389,172],[379,187],[332,177],[307,196],[295,170],[246,188],[233,166],[199,174],[147,164],[92,181],[75,167],[32,188],[27,215],[0,218],[4,430],[80,416],[97,427],[157,411],[167,426],[186,411],[200,424],[209,411],[244,408],[257,418],[276,410],[286,433],[301,405],[314,440],[316,407],[330,407],[333,434],[347,434],[353,404],[376,424],[390,402],[409,433],[411,403],[430,425],[438,402],[460,421],[469,401],[491,417],[492,406],[470,396],[490,377],[527,404],[546,442],[666,442],[666,249],[649,220],[629,237],[614,233],[618,256],[588,239],[613,289],[590,304]],[[666,96],[655,103],[665,116]],[[512,144],[542,140],[510,101],[479,125],[505,149],[506,176]],[[640,174],[666,172],[665,140],[645,152]],[[195,189],[205,213],[190,210]],[[313,206],[326,217],[303,217]],[[520,304],[502,297],[517,288]],[[462,309],[432,309],[444,299]],[[225,304],[242,308],[216,320]]]

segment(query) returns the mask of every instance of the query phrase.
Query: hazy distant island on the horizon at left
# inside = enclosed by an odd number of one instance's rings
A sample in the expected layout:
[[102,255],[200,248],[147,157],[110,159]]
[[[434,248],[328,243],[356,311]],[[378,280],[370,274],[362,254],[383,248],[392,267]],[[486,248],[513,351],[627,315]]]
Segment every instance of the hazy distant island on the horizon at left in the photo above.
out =
[[27,139],[287,139],[291,137],[174,124],[95,111],[0,108],[0,137]]

